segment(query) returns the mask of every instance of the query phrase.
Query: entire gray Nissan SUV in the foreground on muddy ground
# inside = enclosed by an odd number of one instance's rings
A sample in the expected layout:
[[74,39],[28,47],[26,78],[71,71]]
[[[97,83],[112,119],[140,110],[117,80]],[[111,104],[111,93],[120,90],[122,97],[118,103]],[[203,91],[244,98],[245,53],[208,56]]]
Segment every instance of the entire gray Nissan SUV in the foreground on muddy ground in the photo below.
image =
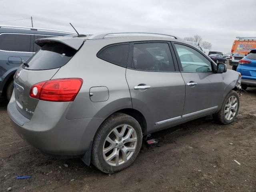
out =
[[80,156],[113,173],[132,164],[142,136],[213,114],[230,124],[240,74],[175,36],[98,34],[36,40],[14,76],[8,114],[42,152]]

